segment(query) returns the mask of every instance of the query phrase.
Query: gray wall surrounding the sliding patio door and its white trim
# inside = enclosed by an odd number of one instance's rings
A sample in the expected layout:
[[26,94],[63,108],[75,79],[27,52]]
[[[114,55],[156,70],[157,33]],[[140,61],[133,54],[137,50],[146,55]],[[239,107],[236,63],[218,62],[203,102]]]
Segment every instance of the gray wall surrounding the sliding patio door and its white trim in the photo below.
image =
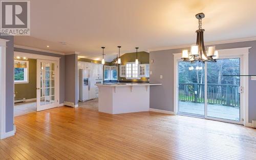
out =
[[[216,49],[229,49],[252,47],[249,49],[249,74],[256,74],[256,41],[218,44]],[[181,52],[182,49],[169,49],[150,52],[151,83],[162,83],[162,86],[151,86],[150,107],[159,110],[174,111],[174,64],[173,54]],[[163,75],[163,79],[160,79]],[[249,78],[249,122],[256,119],[256,81]]]

